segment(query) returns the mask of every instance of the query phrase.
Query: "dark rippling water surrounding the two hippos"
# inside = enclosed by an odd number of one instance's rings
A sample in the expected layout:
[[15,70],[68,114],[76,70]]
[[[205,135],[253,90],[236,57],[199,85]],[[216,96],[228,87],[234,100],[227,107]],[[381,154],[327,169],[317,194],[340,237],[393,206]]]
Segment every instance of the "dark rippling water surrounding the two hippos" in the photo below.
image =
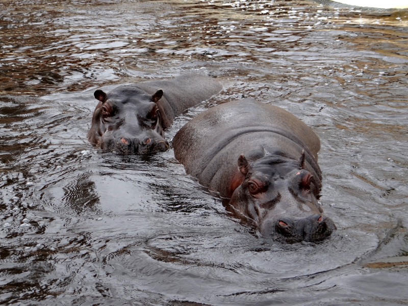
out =
[[[33,4],[34,3],[34,4]],[[0,1],[0,304],[408,304],[408,12],[309,1]],[[258,237],[169,150],[86,140],[96,88],[190,71],[319,135],[319,243]],[[198,85],[199,86],[199,85]]]

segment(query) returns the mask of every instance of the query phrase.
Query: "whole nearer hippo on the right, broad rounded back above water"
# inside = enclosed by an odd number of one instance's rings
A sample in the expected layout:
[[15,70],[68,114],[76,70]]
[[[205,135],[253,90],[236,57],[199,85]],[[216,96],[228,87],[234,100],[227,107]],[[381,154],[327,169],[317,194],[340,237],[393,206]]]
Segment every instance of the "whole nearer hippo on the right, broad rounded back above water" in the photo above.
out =
[[289,112],[243,99],[211,108],[173,139],[188,174],[221,197],[264,237],[322,240],[336,229],[318,198],[320,140]]

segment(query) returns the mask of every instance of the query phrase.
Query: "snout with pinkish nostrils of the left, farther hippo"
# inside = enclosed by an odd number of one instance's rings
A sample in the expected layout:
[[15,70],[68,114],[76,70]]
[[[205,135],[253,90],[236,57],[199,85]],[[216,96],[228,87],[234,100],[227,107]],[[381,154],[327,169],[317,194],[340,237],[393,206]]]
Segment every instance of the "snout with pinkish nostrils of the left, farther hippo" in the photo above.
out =
[[169,144],[165,139],[154,139],[148,136],[142,139],[119,137],[114,143],[113,151],[119,155],[131,155],[165,151],[168,148]]

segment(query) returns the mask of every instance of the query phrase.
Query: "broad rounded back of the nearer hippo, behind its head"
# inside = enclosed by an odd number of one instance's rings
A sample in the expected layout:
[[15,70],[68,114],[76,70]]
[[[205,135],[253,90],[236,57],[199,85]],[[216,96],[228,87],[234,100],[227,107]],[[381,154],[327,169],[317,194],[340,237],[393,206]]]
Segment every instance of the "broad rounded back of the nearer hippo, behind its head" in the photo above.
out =
[[317,135],[284,109],[254,99],[232,101],[201,113],[175,135],[173,148],[187,173],[224,197],[231,196],[229,182],[241,154],[248,161],[265,152],[297,160],[304,150],[305,167],[321,178]]

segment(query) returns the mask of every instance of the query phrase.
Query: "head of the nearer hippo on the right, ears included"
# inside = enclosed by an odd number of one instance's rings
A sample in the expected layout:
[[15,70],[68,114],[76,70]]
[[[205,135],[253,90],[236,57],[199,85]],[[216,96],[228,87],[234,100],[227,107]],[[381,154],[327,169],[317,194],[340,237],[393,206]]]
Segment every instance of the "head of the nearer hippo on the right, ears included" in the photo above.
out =
[[266,155],[248,163],[241,155],[238,166],[243,176],[231,196],[231,208],[262,236],[287,242],[318,241],[336,229],[322,214],[317,201],[320,179],[304,169],[304,152],[299,161]]

